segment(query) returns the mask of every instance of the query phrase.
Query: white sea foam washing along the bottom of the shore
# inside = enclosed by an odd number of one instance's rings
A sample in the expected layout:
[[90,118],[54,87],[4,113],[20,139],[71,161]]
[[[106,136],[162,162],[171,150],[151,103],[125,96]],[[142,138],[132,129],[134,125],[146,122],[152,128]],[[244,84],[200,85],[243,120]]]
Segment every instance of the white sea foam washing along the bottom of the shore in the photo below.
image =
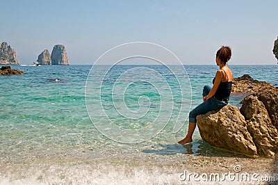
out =
[[[32,165],[8,166],[0,174],[0,184],[256,184],[246,181],[182,181],[180,169],[175,167],[130,167],[98,165]],[[194,174],[194,172],[189,172]],[[200,178],[199,178],[200,179]],[[201,178],[202,179],[202,178]]]

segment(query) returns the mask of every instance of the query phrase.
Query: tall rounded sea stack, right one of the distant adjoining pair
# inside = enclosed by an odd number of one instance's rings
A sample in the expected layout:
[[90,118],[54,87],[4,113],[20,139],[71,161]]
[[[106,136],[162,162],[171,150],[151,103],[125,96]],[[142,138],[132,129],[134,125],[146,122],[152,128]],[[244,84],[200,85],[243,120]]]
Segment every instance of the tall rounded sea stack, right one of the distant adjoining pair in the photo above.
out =
[[55,45],[51,53],[52,65],[69,65],[67,51],[63,45]]

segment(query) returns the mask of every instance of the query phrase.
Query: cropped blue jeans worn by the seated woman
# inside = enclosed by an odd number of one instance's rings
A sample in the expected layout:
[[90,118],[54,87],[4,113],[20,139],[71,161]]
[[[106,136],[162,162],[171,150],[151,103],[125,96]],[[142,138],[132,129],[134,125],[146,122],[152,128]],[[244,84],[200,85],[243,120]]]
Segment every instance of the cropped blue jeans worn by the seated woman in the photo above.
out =
[[[203,96],[208,95],[210,90],[210,86],[204,86]],[[215,97],[211,97],[210,99],[206,100],[206,102],[199,104],[192,111],[190,111],[189,122],[196,122],[197,115],[207,113],[208,111],[220,109],[225,105],[227,105],[227,102],[222,102],[219,99],[215,99]]]

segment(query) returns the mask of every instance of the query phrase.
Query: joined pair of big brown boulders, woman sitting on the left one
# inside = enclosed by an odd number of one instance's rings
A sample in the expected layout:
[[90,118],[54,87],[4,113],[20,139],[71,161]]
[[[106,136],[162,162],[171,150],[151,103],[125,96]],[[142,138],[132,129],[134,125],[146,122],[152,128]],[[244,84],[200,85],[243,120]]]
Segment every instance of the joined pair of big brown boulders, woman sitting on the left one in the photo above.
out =
[[248,156],[274,156],[278,152],[278,96],[268,90],[248,95],[243,106],[227,105],[219,111],[197,116],[202,138]]

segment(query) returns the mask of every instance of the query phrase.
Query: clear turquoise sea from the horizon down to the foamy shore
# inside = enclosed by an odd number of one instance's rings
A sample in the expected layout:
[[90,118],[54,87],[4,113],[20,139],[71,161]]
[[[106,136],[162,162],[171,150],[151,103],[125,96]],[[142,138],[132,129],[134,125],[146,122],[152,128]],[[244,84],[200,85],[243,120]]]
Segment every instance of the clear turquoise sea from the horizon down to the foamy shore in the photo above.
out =
[[[91,67],[13,66],[25,74],[0,76],[0,184],[180,184],[180,170],[200,160],[196,156],[208,156],[211,166],[215,156],[243,158],[211,147],[198,129],[192,144],[177,144],[217,66],[185,65],[185,72],[181,66],[100,65],[90,78]],[[277,65],[230,68],[234,77],[250,74],[278,86]],[[229,103],[240,106],[242,98],[231,95]]]

